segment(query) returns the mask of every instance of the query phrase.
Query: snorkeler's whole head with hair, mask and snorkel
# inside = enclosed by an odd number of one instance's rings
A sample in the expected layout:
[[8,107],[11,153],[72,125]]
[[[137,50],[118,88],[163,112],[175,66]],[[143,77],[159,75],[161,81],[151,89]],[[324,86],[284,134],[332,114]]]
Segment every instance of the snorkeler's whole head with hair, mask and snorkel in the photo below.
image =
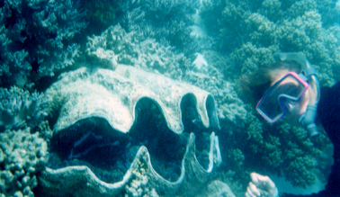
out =
[[319,97],[315,70],[298,53],[279,55],[283,58],[275,54],[277,62],[241,77],[240,85],[246,87],[247,95],[253,95],[256,110],[266,121],[273,123],[284,117],[293,124],[300,122],[310,136],[318,135],[314,123]]

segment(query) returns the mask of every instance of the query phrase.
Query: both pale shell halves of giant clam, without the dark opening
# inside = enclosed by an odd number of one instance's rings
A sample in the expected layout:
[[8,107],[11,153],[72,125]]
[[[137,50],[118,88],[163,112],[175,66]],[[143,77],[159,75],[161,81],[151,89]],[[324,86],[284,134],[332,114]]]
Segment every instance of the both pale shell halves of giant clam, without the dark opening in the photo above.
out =
[[[184,104],[193,106],[191,110],[198,114],[197,120],[192,121],[199,121],[204,128],[219,129],[215,101],[210,93],[136,67],[120,65],[115,70],[82,67],[62,74],[45,94],[59,113],[54,127],[56,135],[63,130],[72,132],[67,128],[92,117],[106,120],[112,132],[125,135],[135,123],[139,113],[136,112],[136,106],[143,98],[157,105],[168,129],[176,135],[183,133],[183,100]],[[141,146],[120,182],[105,183],[87,166],[67,166],[60,169],[47,167],[40,175],[40,185],[43,193],[50,196],[112,196],[124,191],[141,196],[141,193],[148,191],[147,187],[162,196],[199,196],[200,193],[206,196],[202,188],[209,187],[213,167],[221,163],[218,137],[211,132],[209,165],[206,169],[200,165],[195,151],[195,136],[191,133],[187,139],[181,173],[175,182],[167,181],[157,174],[151,165],[148,149]],[[211,185],[209,193],[225,193],[225,184]],[[233,196],[231,194],[229,196]]]

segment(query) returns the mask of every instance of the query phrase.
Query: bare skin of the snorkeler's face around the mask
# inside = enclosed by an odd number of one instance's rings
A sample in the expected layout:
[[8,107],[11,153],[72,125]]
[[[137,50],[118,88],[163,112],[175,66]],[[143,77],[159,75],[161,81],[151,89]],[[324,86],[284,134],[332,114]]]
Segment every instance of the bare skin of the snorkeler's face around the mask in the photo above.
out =
[[[277,81],[279,81],[283,76],[287,75],[290,70],[288,69],[278,69],[278,70],[273,70],[271,73],[272,77],[272,83],[271,85],[274,85]],[[285,80],[286,83],[297,83],[294,80]],[[300,98],[299,101],[293,102],[293,103],[288,103],[286,104],[286,107],[288,109],[287,114],[285,115],[285,121],[293,122],[293,123],[299,123],[299,118],[301,114],[306,112],[307,105],[309,104],[309,89],[303,94]]]

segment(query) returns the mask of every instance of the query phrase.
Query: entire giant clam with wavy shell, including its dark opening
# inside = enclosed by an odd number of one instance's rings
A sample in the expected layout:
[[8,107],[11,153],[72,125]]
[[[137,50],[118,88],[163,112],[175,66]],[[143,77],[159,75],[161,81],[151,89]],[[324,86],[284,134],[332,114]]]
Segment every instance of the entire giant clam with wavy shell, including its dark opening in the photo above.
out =
[[208,92],[119,65],[65,73],[46,94],[58,120],[49,167],[40,177],[44,193],[231,193],[228,185],[210,182],[221,157]]

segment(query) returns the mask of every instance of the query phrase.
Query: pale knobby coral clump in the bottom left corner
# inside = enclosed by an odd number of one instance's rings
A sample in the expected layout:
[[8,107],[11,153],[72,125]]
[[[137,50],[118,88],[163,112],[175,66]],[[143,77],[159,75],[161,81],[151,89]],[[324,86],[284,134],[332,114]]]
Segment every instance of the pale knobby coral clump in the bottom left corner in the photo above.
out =
[[44,170],[48,146],[31,129],[0,133],[0,193],[5,196],[34,196],[37,175]]

